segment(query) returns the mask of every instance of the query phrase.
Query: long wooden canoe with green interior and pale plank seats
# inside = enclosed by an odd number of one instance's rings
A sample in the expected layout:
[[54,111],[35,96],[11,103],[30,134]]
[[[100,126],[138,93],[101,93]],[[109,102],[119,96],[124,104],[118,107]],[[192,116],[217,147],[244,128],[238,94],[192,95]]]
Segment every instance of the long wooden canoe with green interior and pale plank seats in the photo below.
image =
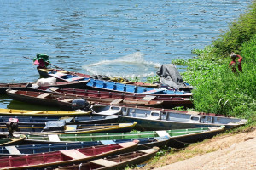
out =
[[[212,138],[212,136],[224,132],[222,127],[204,127],[204,128],[190,128],[190,129],[177,129],[166,131],[144,131],[144,132],[130,132],[130,133],[84,133],[84,134],[58,134],[53,136],[49,135],[26,135],[24,144],[48,144],[59,142],[84,142],[84,144],[112,144],[122,143],[137,139],[138,150],[148,147],[157,146],[159,148],[168,145],[172,148],[183,147],[184,144],[195,143],[204,139]],[[97,144],[99,144],[97,143]]]

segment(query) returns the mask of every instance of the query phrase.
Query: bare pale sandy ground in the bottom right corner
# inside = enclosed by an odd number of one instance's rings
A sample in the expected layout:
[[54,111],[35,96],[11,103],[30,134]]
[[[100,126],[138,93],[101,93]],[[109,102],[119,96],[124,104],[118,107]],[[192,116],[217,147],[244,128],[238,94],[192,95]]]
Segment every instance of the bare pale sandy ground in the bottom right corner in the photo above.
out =
[[[190,146],[189,146],[190,147]],[[196,144],[189,150],[216,150],[178,161],[157,170],[256,170],[256,130],[234,135],[224,135]],[[172,155],[165,160],[172,162]],[[153,169],[150,167],[150,169]]]

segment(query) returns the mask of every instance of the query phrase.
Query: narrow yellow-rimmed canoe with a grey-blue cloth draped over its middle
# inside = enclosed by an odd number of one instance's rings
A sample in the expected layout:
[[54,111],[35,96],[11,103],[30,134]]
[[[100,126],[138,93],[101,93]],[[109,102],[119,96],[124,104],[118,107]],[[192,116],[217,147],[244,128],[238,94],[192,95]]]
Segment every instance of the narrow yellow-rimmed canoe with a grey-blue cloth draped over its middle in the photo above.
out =
[[[137,122],[133,123],[105,123],[105,124],[78,124],[66,125],[65,122],[47,122],[46,126],[40,125],[19,125],[18,134],[78,134],[78,133],[114,133],[114,132],[130,132]],[[0,134],[8,134],[5,125],[0,125]]]

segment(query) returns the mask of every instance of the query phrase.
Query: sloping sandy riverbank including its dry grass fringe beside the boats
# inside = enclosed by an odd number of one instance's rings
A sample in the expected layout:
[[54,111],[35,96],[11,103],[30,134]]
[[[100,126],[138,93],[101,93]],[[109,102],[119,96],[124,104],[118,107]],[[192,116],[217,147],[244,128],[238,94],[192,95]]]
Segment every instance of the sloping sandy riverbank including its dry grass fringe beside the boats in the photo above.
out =
[[256,126],[240,133],[220,134],[180,151],[154,158],[139,170],[256,169]]

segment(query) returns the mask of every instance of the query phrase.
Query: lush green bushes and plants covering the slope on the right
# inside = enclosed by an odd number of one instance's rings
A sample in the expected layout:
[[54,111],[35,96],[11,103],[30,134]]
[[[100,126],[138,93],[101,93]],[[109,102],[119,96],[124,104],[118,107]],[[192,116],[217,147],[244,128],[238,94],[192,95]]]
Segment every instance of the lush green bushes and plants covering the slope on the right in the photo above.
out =
[[[234,74],[228,67],[232,51],[243,57],[242,73]],[[255,122],[255,1],[247,13],[234,21],[211,46],[193,53],[197,57],[185,61],[188,71],[183,73],[183,78],[196,87],[193,92],[195,110],[238,116]]]

